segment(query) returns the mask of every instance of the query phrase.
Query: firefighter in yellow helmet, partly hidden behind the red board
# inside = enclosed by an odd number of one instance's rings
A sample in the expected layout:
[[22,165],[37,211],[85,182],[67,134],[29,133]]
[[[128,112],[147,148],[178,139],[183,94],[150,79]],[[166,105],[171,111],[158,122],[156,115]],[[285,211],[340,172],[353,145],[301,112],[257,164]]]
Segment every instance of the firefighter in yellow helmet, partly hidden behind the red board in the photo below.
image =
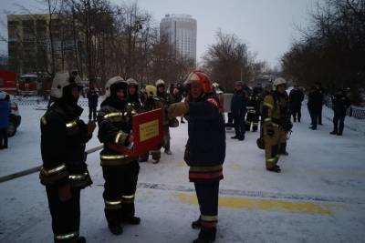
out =
[[[143,104],[144,111],[150,111],[150,110],[153,110],[153,109],[162,108],[162,102],[157,97],[156,86],[146,86],[146,93],[147,93],[147,98],[146,98],[146,101]],[[151,152],[151,157],[154,160],[153,164],[159,163],[160,158],[161,158],[160,148],[158,148],[156,150],[152,150],[150,152]],[[150,156],[149,153],[141,155],[140,162],[146,162],[148,160],[149,156]]]

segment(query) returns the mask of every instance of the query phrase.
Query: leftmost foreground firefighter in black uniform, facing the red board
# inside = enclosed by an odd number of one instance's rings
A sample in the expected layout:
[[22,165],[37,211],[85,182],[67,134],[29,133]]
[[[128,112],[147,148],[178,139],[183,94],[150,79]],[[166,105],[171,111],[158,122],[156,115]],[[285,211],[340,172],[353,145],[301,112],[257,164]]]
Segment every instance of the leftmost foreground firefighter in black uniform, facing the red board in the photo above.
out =
[[80,190],[92,183],[85,144],[96,126],[79,119],[80,81],[76,72],[57,73],[51,87],[53,104],[40,120],[43,166],[39,177],[46,186],[55,242],[86,242],[78,236]]

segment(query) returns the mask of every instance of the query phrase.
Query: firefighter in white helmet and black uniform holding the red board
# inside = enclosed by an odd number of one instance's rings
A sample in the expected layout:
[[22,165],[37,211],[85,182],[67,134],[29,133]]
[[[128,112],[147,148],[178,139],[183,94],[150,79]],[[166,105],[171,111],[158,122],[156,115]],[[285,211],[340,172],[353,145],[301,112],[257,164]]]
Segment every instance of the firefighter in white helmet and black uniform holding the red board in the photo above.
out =
[[98,137],[104,143],[100,152],[105,179],[104,212],[110,232],[120,235],[123,231],[121,223],[138,225],[141,222],[141,218],[134,216],[140,165],[137,157],[130,157],[126,152],[133,143],[132,116],[136,112],[127,105],[127,83],[120,76],[108,80],[105,92],[106,98],[98,114]]

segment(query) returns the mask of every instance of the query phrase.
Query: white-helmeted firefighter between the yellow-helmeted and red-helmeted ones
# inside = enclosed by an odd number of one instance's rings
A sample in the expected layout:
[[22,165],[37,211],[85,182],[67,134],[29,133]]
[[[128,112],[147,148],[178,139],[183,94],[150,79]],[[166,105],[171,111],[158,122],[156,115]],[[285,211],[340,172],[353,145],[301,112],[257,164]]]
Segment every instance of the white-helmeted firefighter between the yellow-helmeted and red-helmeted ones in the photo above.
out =
[[157,97],[162,103],[162,119],[163,119],[163,147],[165,149],[165,154],[172,155],[170,150],[170,128],[169,128],[169,118],[167,117],[167,108],[170,106],[169,95],[165,91],[165,82],[162,79],[156,81]]

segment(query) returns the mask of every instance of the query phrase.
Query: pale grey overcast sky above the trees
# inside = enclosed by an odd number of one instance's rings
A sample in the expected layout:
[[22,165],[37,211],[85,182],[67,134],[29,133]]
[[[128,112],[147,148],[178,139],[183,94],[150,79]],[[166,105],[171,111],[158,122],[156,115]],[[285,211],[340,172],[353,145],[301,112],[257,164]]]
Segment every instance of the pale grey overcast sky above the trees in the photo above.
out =
[[[270,66],[279,64],[279,58],[299,38],[296,25],[308,25],[308,13],[318,0],[138,0],[138,5],[153,15],[160,23],[166,14],[192,15],[197,20],[197,57],[207,46],[214,44],[218,28],[226,34],[235,34],[243,40],[257,59]],[[111,0],[118,4],[122,0]],[[134,2],[126,0],[125,2]],[[40,12],[36,0],[1,0],[0,13],[3,22],[5,11],[19,13],[16,4]],[[1,35],[7,35],[1,26]],[[0,43],[0,52],[7,46]]]

